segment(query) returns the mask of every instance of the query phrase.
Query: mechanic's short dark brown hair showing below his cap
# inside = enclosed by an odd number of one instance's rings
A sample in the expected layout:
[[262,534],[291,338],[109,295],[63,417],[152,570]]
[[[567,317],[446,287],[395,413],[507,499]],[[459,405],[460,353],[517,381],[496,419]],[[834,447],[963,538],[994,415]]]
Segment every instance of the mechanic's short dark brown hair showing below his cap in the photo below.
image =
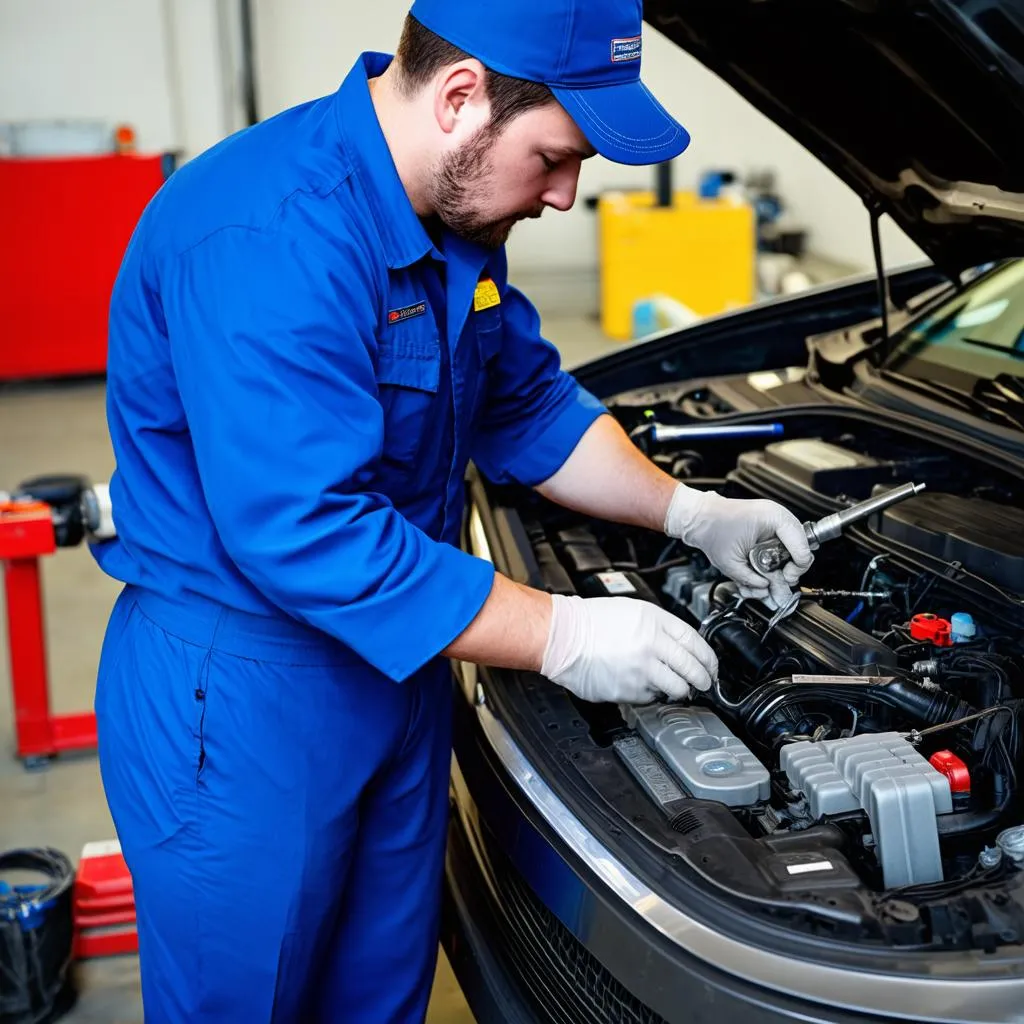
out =
[[[442,68],[465,60],[470,54],[454,46],[446,39],[425,28],[412,14],[398,41],[395,62],[398,66],[398,84],[407,95],[426,85]],[[540,82],[500,75],[484,68],[484,84],[490,100],[488,128],[500,134],[520,114],[534,106],[543,106],[554,98],[551,90]]]

